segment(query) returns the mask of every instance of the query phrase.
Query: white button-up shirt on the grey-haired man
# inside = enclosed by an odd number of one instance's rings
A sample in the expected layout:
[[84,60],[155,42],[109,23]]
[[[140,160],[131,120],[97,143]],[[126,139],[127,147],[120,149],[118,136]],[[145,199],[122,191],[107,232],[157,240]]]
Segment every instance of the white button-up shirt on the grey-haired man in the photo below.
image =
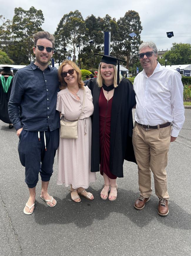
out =
[[135,121],[152,126],[171,122],[171,136],[177,137],[185,120],[180,73],[158,63],[151,76],[145,70],[140,72],[133,87],[137,102]]

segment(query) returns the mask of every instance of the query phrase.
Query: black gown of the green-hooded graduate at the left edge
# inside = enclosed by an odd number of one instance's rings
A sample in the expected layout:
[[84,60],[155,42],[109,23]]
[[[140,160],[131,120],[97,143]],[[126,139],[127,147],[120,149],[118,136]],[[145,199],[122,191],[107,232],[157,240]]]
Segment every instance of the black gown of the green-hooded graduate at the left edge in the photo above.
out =
[[[8,79],[8,76],[5,76],[5,81],[7,81],[7,79]],[[13,78],[11,79],[8,92],[4,93],[3,86],[0,79],[0,119],[4,123],[11,123],[9,119],[9,113],[8,113],[8,102],[11,95],[12,85],[13,85]]]

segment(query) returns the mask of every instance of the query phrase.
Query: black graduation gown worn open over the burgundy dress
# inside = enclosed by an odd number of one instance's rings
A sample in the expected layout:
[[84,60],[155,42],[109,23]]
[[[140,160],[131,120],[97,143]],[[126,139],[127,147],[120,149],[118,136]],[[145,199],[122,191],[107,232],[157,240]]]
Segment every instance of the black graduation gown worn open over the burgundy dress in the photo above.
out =
[[[93,96],[94,112],[92,116],[91,172],[100,170],[99,145],[99,96],[102,88],[96,79],[88,83]],[[123,177],[124,159],[135,162],[132,144],[133,116],[132,108],[136,104],[133,84],[122,79],[113,94],[110,127],[110,171],[117,177]]]

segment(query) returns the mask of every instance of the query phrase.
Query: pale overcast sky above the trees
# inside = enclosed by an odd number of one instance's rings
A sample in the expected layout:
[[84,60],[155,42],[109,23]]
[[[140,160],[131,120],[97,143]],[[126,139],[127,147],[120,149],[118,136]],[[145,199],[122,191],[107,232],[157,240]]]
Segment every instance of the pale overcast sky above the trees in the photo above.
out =
[[[41,9],[44,15],[43,30],[54,33],[64,14],[76,9],[83,19],[91,14],[105,17],[109,14],[118,20],[128,10],[139,13],[143,27],[141,39],[156,43],[158,50],[172,47],[172,43],[191,43],[191,1],[177,0],[11,0],[9,4],[0,0],[0,14],[6,19],[12,19],[14,8],[22,7],[28,10],[31,6]],[[168,38],[166,32],[174,32],[174,37]]]

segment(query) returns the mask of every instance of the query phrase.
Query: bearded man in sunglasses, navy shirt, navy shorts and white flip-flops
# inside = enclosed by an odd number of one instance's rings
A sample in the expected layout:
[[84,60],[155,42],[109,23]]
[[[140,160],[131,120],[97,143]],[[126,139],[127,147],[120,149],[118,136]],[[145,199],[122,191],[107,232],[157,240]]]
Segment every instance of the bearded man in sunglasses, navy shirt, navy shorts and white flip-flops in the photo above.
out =
[[41,198],[54,207],[56,200],[48,194],[54,156],[59,144],[60,117],[56,110],[59,81],[56,68],[48,62],[53,56],[54,36],[46,31],[34,35],[36,61],[19,69],[14,76],[9,100],[9,117],[19,136],[19,158],[25,167],[25,182],[30,197],[24,213],[34,211],[36,184],[40,172]]

